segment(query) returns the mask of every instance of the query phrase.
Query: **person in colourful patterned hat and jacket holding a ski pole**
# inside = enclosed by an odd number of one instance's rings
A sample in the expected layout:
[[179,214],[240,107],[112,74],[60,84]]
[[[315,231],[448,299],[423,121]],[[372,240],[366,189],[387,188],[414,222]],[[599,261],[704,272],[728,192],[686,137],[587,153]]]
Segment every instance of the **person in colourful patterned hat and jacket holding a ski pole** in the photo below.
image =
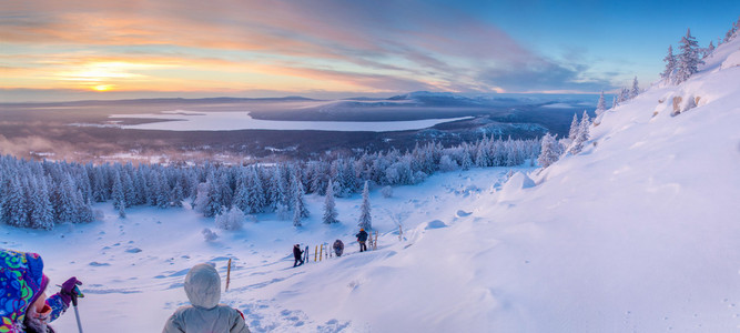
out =
[[41,256],[0,249],[0,333],[53,333],[49,323],[67,311],[81,284],[72,276],[59,293],[47,297],[49,278]]

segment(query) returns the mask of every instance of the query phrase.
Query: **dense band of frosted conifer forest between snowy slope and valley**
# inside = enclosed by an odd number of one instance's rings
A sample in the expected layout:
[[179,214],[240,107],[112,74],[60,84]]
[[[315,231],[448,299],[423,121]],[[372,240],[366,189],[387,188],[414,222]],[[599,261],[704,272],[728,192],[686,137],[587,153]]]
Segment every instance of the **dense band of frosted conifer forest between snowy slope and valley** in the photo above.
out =
[[126,208],[166,209],[192,199],[192,206],[209,218],[237,208],[288,219],[303,194],[324,195],[330,183],[333,195],[343,198],[361,192],[366,181],[375,186],[416,184],[438,171],[531,163],[539,151],[538,140],[484,137],[450,148],[427,143],[407,152],[270,165],[93,165],[6,155],[0,157],[0,216],[9,225],[49,230],[93,221],[95,202],[112,201],[123,218]]

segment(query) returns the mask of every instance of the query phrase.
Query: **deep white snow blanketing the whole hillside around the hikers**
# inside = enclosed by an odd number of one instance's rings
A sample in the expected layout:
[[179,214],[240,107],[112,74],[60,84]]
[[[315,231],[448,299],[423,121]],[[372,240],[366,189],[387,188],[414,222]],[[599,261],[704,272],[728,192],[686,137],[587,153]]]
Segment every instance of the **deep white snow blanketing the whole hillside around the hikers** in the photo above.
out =
[[[376,251],[341,225],[260,216],[241,232],[211,219],[133,209],[52,232],[0,226],[3,248],[36,251],[52,283],[85,282],[89,332],[156,332],[186,302],[195,263],[235,261],[223,302],[254,332],[736,332],[740,329],[740,39],[681,85],[656,84],[601,114],[578,155],[544,171],[442,173],[393,198],[373,191]],[[673,98],[698,107],[672,115]],[[677,103],[680,109],[688,104]],[[404,228],[403,240],[394,233]],[[63,236],[63,238],[62,238]],[[347,255],[292,269],[291,246],[345,241]],[[139,251],[141,250],[141,251]],[[312,254],[313,260],[313,254]],[[60,332],[74,332],[72,314]]]

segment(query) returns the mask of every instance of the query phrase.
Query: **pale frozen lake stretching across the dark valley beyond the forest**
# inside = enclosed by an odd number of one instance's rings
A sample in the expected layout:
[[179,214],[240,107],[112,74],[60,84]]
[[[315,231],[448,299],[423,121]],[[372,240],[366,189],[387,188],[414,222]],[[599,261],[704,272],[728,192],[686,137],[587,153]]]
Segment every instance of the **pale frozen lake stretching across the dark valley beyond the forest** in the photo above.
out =
[[473,117],[425,119],[412,121],[276,121],[260,120],[249,112],[195,112],[185,110],[161,113],[112,114],[115,119],[156,119],[161,121],[122,125],[123,129],[160,131],[235,131],[235,130],[280,130],[280,131],[338,131],[338,132],[393,132],[420,130],[438,123],[452,122]]

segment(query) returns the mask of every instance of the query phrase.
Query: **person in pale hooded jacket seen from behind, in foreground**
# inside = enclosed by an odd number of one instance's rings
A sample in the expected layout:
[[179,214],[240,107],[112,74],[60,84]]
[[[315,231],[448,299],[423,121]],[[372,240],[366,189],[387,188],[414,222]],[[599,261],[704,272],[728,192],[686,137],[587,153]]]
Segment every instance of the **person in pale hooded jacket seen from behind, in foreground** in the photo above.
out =
[[163,333],[250,333],[239,310],[219,304],[221,276],[212,265],[196,264],[187,272],[185,294],[192,305],[180,306]]

